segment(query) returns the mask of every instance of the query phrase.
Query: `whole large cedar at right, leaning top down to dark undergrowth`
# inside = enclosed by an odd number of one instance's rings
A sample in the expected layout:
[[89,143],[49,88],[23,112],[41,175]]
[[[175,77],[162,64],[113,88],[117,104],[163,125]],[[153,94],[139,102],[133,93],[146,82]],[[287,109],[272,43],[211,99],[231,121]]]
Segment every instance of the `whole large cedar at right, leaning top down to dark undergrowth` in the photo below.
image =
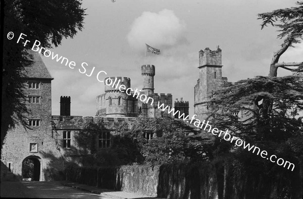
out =
[[[279,62],[288,47],[302,39],[303,2],[297,4],[296,8],[259,14],[262,28],[268,24],[278,27],[278,38],[284,39],[274,53],[269,76],[226,84],[209,101],[209,118],[216,127],[229,129],[233,136],[295,165],[293,171],[287,170],[221,138],[218,148],[225,145],[225,150],[217,156],[227,151],[244,173],[271,179],[278,198],[301,198],[303,191],[303,63]],[[296,75],[277,77],[279,67]]]

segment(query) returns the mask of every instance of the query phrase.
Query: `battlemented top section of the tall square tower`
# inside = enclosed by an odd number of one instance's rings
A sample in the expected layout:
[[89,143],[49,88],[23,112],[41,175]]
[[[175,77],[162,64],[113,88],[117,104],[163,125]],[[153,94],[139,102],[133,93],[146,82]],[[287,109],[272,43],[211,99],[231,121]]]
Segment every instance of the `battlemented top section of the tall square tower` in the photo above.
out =
[[216,51],[211,51],[209,47],[199,51],[199,67],[206,65],[222,66],[222,50],[219,46]]

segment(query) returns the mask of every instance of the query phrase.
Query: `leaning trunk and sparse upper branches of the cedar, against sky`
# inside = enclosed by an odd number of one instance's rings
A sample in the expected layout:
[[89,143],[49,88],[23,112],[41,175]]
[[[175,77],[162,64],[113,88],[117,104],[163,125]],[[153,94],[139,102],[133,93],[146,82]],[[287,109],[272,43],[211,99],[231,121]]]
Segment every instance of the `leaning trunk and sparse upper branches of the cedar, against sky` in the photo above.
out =
[[[269,24],[274,27],[278,27],[281,32],[278,35],[278,38],[284,38],[281,48],[273,55],[269,71],[270,77],[277,76],[277,70],[279,67],[294,72],[303,71],[303,62],[279,63],[281,55],[286,52],[288,47],[292,46],[294,43],[300,43],[300,39],[302,39],[303,2],[297,2],[297,5],[298,7],[278,9],[269,13],[259,14],[258,19],[263,20],[263,23],[261,24],[262,29]],[[289,67],[297,68],[291,69]]]

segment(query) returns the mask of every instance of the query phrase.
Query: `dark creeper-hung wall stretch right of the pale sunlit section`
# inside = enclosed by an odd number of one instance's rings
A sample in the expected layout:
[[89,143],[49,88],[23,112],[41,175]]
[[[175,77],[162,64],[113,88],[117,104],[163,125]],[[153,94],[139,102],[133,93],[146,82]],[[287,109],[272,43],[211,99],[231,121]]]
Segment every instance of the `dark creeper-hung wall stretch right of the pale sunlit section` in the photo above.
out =
[[[276,167],[276,166],[273,166]],[[165,198],[302,198],[301,168],[267,172],[232,158],[160,167],[158,196]]]

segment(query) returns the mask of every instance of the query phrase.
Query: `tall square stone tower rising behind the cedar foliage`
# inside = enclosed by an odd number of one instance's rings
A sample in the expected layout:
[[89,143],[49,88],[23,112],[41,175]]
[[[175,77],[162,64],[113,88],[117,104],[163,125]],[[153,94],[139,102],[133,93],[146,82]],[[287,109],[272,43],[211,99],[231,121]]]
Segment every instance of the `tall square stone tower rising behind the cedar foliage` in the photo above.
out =
[[208,111],[207,101],[214,91],[227,82],[227,77],[222,77],[222,50],[219,46],[216,51],[208,47],[205,51],[199,51],[198,69],[199,79],[194,86],[194,114],[199,120],[204,120]]

